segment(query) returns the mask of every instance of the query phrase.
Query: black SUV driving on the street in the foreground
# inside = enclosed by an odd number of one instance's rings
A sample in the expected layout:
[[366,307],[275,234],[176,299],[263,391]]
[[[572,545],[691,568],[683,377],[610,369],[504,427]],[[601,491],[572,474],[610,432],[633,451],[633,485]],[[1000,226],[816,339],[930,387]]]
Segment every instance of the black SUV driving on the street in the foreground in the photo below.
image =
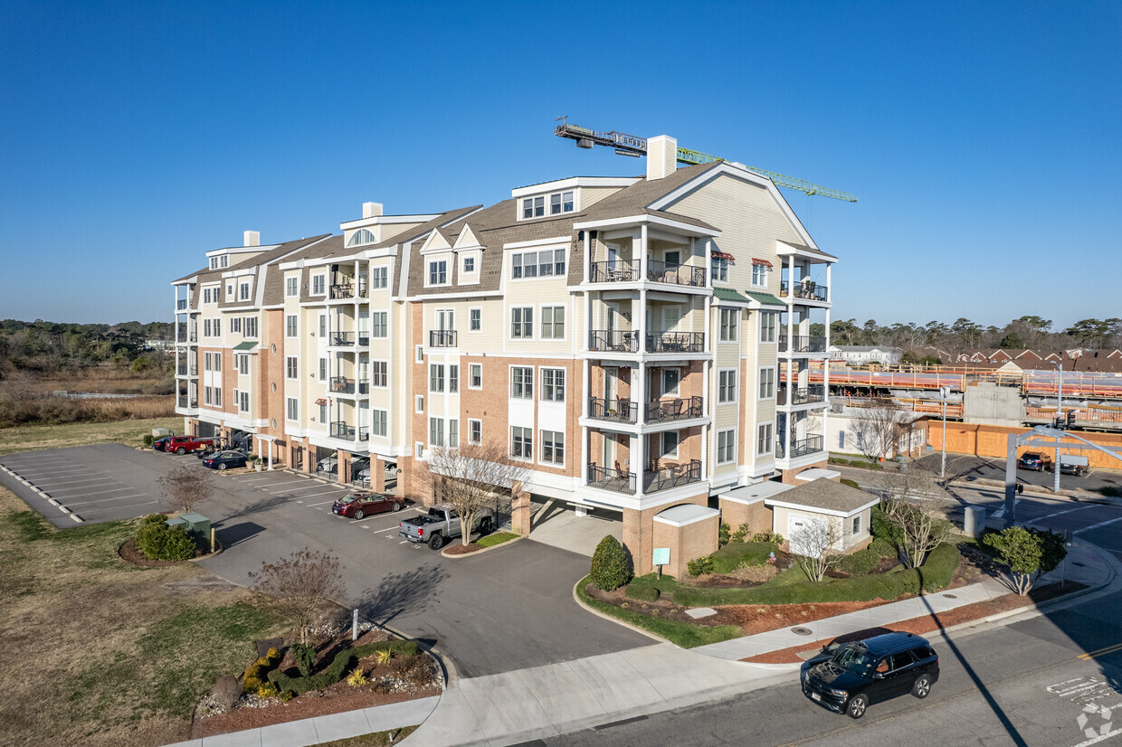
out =
[[831,646],[810,660],[802,693],[831,711],[859,719],[870,703],[902,695],[927,698],[939,680],[939,656],[911,633],[886,633]]

